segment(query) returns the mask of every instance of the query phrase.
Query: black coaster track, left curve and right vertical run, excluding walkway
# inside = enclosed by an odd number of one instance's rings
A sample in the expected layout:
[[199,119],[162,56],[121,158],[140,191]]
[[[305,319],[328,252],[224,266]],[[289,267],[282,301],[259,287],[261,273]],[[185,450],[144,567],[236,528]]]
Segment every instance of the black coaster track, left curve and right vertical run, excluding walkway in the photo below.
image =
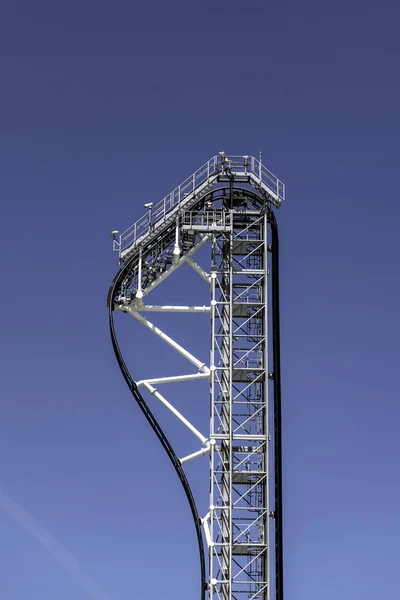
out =
[[[281,360],[280,360],[280,314],[279,314],[279,235],[278,226],[275,215],[271,208],[265,204],[265,200],[260,198],[257,194],[245,191],[246,194],[252,198],[252,200],[259,205],[259,208],[266,210],[268,221],[271,226],[271,252],[272,252],[272,341],[273,341],[273,381],[274,381],[274,470],[275,470],[275,599],[283,600],[283,510],[282,510],[282,392],[281,392]],[[200,573],[201,573],[201,590],[200,600],[205,600],[205,593],[207,590],[206,584],[206,566],[205,566],[205,553],[204,543],[201,531],[201,520],[197,506],[193,497],[192,490],[189,482],[182,468],[181,462],[169,440],[164,434],[160,424],[151,412],[149,406],[141,395],[137,384],[133,380],[128,367],[122,356],[114,326],[114,297],[116,291],[120,288],[124,279],[129,275],[134,265],[136,256],[132,256],[127,260],[124,266],[120,269],[114,278],[113,285],[111,286],[107,304],[109,307],[109,326],[112,346],[114,354],[117,359],[121,373],[126,381],[126,384],[136,400],[139,408],[143,412],[145,418],[156,434],[157,438],[161,442],[164,450],[166,451],[168,458],[170,459],[176,474],[182,484],[185,491],[186,498],[189,502],[190,510],[193,517],[193,523],[196,529],[199,559],[200,559]]]

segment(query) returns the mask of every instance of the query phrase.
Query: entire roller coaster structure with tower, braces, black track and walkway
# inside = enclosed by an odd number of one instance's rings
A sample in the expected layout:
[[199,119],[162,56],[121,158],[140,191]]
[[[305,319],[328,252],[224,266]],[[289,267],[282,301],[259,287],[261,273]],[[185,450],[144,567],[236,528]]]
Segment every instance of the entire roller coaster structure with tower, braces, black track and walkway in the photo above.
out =
[[[121,264],[107,297],[113,349],[188,499],[201,600],[270,600],[272,593],[283,600],[279,238],[272,207],[279,208],[284,197],[284,185],[261,157],[220,153],[159,204],[145,205],[147,215],[122,235],[111,234]],[[208,270],[193,260],[207,245]],[[210,304],[145,304],[184,263],[209,286]],[[130,314],[197,371],[134,381],[117,341],[115,311]],[[149,321],[148,312],[208,314],[209,365]],[[209,383],[207,435],[158,391],[170,382],[197,381]],[[178,458],[140,390],[170,410],[201,447]],[[183,465],[204,456],[210,462],[210,502],[200,518]]]

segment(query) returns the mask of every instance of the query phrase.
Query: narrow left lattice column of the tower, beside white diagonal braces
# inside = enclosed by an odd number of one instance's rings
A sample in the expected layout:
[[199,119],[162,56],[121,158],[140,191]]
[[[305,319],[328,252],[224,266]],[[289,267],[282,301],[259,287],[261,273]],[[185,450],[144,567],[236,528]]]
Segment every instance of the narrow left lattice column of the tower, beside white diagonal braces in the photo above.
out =
[[213,238],[210,598],[232,598],[232,233]]

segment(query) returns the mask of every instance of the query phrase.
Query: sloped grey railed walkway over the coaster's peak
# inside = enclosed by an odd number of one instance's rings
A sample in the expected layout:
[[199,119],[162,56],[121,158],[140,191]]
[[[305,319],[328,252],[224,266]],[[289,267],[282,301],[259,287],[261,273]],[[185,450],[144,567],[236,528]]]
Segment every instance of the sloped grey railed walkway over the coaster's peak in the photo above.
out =
[[184,207],[193,199],[196,191],[212,183],[222,173],[232,172],[236,176],[249,177],[250,182],[264,189],[279,206],[285,199],[285,185],[261,161],[254,156],[226,156],[223,152],[213,156],[200,169],[185,179],[158,204],[145,205],[147,214],[126,229],[119,237],[113,239],[113,250],[121,255],[130,247],[136,246],[150,232],[153,233],[177,207]]

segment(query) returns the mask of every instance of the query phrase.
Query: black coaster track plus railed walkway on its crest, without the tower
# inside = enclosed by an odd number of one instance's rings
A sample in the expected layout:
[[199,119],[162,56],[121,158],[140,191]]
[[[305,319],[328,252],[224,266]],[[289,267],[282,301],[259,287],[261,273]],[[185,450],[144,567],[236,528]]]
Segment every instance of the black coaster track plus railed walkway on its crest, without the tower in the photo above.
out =
[[[243,157],[247,160],[249,157]],[[255,159],[251,159],[253,165],[256,164]],[[218,162],[219,161],[219,162]],[[247,165],[248,167],[248,160]],[[260,163],[261,164],[261,163]],[[207,163],[208,165],[208,163]],[[236,163],[237,165],[237,163]],[[141,269],[138,267],[139,262],[141,263],[142,256],[150,254],[153,258],[159,256],[163,249],[171,247],[174,243],[175,237],[177,236],[178,228],[181,230],[185,222],[185,214],[202,214],[204,215],[205,207],[209,206],[213,202],[216,202],[219,198],[230,197],[232,200],[233,194],[241,195],[246,197],[252,204],[252,206],[260,211],[260,214],[266,216],[267,222],[269,223],[271,230],[271,243],[268,247],[268,251],[271,253],[271,273],[272,273],[272,291],[271,291],[271,314],[272,314],[272,364],[273,364],[273,431],[274,431],[274,510],[273,514],[275,527],[274,527],[274,561],[275,561],[275,598],[276,600],[283,600],[283,526],[282,526],[282,419],[281,419],[281,365],[280,365],[280,316],[279,316],[279,236],[278,227],[272,206],[278,207],[281,199],[284,197],[284,187],[281,182],[276,183],[276,186],[271,190],[270,182],[271,174],[268,172],[269,185],[265,185],[262,177],[262,170],[265,171],[264,167],[260,167],[256,164],[257,173],[260,175],[259,178],[254,180],[254,177],[249,173],[243,173],[243,169],[240,170],[235,168],[235,161],[229,161],[222,156],[222,160],[212,159],[212,166],[208,166],[208,177],[206,182],[200,178],[200,182],[196,178],[190,178],[193,182],[193,187],[190,194],[187,194],[184,198],[184,205],[179,201],[173,203],[169,200],[169,209],[165,208],[165,199],[162,201],[163,210],[159,211],[159,218],[157,220],[147,220],[147,229],[144,226],[144,222],[140,227],[136,227],[134,235],[131,235],[133,228],[128,230],[128,234],[122,234],[118,241],[115,241],[114,236],[114,249],[119,252],[120,262],[122,266],[117,272],[112,286],[108,292],[107,306],[109,309],[109,328],[110,336],[112,341],[113,350],[121,370],[121,373],[125,379],[125,382],[137,402],[140,410],[143,412],[146,420],[153,429],[164,450],[166,451],[168,458],[170,459],[175,472],[182,484],[186,498],[188,500],[193,523],[196,530],[197,544],[199,551],[200,560],[200,600],[205,600],[206,593],[210,589],[210,583],[206,580],[206,563],[205,563],[205,548],[203,543],[202,534],[202,521],[199,517],[196,502],[194,500],[192,490],[189,482],[185,475],[182,461],[176,455],[171,443],[167,439],[163,432],[159,422],[155,418],[154,414],[150,410],[148,404],[143,398],[138,384],[133,379],[123,358],[120,346],[118,344],[115,325],[114,325],[114,311],[116,309],[128,312],[127,304],[127,292],[129,286],[134,287],[136,298],[139,298],[138,292],[141,291],[140,277]],[[203,168],[204,172],[204,168]],[[253,177],[253,181],[252,181]],[[272,176],[273,177],[273,176]],[[197,185],[196,184],[197,181]],[[278,180],[276,180],[278,181]],[[217,187],[219,183],[222,183],[222,187]],[[247,183],[247,187],[239,187],[237,184]],[[268,183],[268,182],[267,182]],[[228,185],[224,185],[228,184]],[[248,189],[249,187],[255,188],[255,191]],[[200,192],[199,192],[200,189]],[[276,192],[276,193],[275,193]],[[170,197],[167,197],[167,199]],[[197,212],[196,212],[197,211]],[[215,213],[215,211],[214,211]],[[215,214],[214,214],[215,217]],[[225,217],[224,217],[225,218]],[[203,217],[204,219],[204,217]],[[143,220],[141,220],[143,221]],[[206,223],[207,225],[207,223]],[[190,225],[191,226],[191,225]],[[206,232],[199,235],[206,239],[207,231],[210,233],[212,228],[206,227]],[[140,231],[140,234],[137,232]],[[126,240],[129,239],[129,244]],[[176,246],[175,246],[176,248]],[[182,261],[185,258],[185,253],[182,253],[182,258],[178,260]],[[190,252],[186,253],[187,257]],[[156,259],[157,260],[157,259]],[[173,260],[173,259],[172,259]],[[171,260],[171,262],[172,262]],[[154,263],[155,264],[155,263]],[[175,268],[178,262],[171,265],[170,269]],[[154,265],[153,265],[154,266]],[[148,274],[152,271],[152,266],[148,268]],[[154,275],[153,275],[154,278]],[[162,278],[162,277],[161,277]],[[133,282],[139,281],[139,284],[133,285]],[[154,281],[154,279],[153,279]],[[151,287],[152,279],[148,279],[148,289]],[[154,285],[154,283],[153,283]],[[132,301],[132,293],[130,295]],[[137,302],[138,300],[136,300]],[[264,600],[269,598],[267,592],[263,592],[264,588],[260,587],[259,595],[248,596],[254,598],[254,600]],[[211,596],[210,596],[211,597]],[[219,596],[223,600],[227,596]],[[236,598],[236,596],[231,596]],[[230,598],[229,598],[230,600]]]

